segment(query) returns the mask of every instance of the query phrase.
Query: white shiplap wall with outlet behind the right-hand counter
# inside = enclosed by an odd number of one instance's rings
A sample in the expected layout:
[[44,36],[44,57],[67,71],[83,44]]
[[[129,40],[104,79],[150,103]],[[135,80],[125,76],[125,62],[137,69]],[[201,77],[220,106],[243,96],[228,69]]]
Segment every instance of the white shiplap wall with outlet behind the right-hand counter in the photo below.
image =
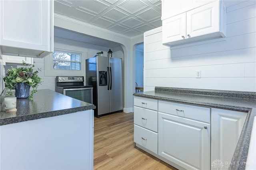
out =
[[[144,33],[144,91],[155,86],[256,92],[256,1],[227,8],[227,35],[162,45],[162,27]],[[202,78],[196,77],[201,70]]]

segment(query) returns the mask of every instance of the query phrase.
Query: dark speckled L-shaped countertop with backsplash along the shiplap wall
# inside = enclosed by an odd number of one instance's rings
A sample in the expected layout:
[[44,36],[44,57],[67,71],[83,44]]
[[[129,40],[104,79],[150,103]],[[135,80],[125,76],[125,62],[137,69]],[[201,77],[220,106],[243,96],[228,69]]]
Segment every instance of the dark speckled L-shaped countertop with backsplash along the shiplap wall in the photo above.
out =
[[155,91],[134,93],[134,96],[247,112],[246,121],[231,161],[239,163],[231,164],[229,167],[230,170],[245,169],[244,162],[248,155],[253,119],[256,116],[256,92],[156,87]]

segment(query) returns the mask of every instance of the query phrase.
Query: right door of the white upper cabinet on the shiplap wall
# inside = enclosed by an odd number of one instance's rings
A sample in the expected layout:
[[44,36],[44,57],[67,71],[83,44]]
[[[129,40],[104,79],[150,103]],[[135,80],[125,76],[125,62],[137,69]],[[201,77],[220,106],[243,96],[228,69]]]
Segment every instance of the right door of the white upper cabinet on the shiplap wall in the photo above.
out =
[[219,31],[219,9],[219,1],[215,1],[188,11],[187,38]]

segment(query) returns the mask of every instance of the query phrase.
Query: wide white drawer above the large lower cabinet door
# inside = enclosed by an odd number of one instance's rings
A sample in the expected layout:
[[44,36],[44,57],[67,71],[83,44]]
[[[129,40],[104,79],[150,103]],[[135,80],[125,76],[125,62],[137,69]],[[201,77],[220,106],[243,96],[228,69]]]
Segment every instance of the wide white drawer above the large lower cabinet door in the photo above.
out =
[[210,108],[158,101],[158,111],[210,123]]

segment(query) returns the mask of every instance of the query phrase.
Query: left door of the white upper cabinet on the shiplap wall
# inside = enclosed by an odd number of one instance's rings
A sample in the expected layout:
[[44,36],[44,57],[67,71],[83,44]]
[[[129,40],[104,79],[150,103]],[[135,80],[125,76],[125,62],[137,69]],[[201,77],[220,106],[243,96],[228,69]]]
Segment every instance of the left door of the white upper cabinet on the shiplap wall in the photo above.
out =
[[162,25],[163,43],[186,38],[186,13],[163,20]]

